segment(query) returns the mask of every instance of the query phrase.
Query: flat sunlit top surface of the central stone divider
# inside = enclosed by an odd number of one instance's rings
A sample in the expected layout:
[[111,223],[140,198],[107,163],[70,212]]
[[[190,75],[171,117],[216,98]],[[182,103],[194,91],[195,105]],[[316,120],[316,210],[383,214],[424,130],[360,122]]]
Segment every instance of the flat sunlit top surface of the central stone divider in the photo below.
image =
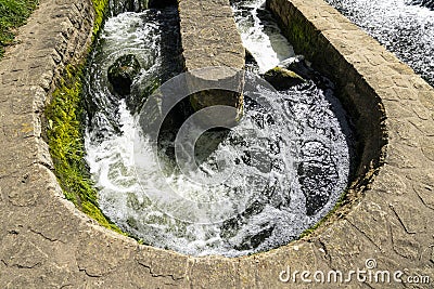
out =
[[229,0],[178,0],[178,11],[187,70],[244,68],[244,47]]

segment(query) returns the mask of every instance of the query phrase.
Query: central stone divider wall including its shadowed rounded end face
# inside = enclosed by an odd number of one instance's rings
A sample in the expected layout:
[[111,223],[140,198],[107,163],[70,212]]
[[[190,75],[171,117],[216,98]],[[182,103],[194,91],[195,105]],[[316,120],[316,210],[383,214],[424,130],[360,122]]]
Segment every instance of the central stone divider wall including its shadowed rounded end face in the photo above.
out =
[[[245,51],[229,0],[179,0],[178,10],[184,69],[192,73],[193,81],[189,86],[195,88],[197,81],[202,81],[213,87],[213,82],[232,78],[231,81],[240,81],[242,78],[239,71],[244,68]],[[217,70],[210,73],[203,69],[208,67],[230,67],[233,71],[226,69],[216,74]],[[240,81],[240,87],[242,86]],[[194,93],[190,101],[195,110],[213,105],[227,105],[237,108],[234,119],[242,114],[241,93],[207,90]]]

